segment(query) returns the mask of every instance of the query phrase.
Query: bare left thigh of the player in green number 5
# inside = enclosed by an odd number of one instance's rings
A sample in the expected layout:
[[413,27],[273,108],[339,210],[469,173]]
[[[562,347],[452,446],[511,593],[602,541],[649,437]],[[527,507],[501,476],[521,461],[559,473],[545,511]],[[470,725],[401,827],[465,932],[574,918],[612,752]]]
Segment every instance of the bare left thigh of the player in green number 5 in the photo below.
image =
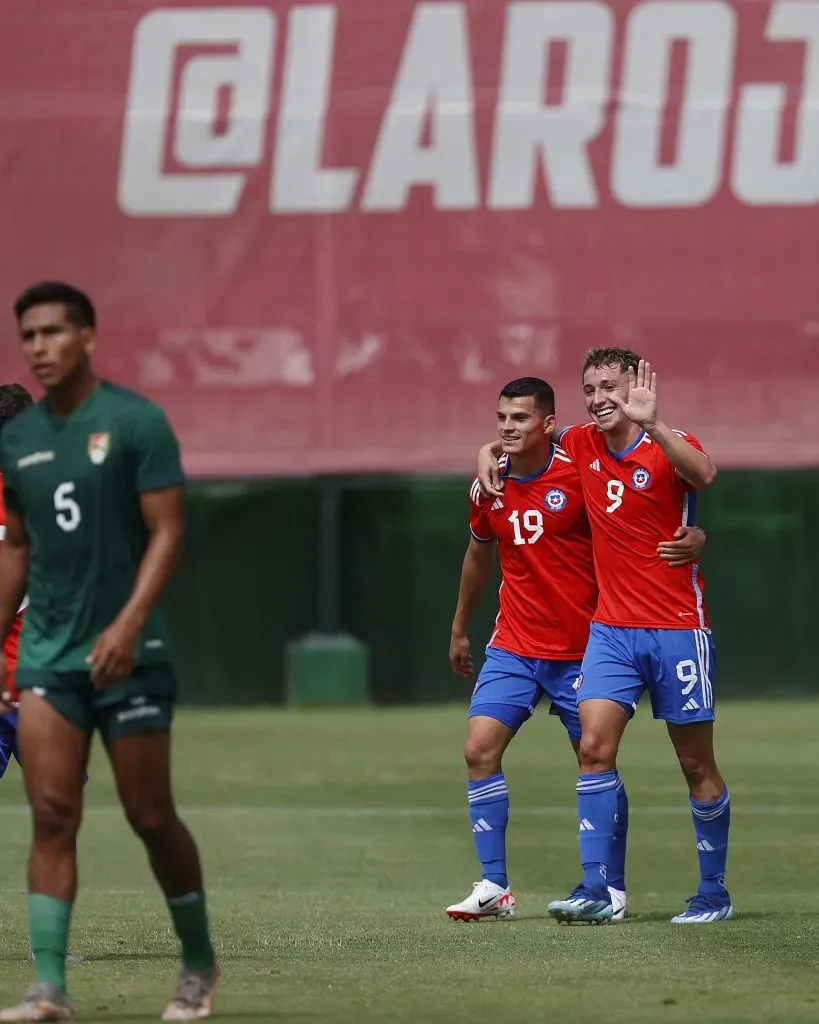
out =
[[[91,745],[91,727],[83,721],[82,693],[66,689],[20,692],[17,748],[29,802],[38,810],[58,809],[62,817],[79,818],[83,777]],[[70,715],[66,712],[70,711]]]

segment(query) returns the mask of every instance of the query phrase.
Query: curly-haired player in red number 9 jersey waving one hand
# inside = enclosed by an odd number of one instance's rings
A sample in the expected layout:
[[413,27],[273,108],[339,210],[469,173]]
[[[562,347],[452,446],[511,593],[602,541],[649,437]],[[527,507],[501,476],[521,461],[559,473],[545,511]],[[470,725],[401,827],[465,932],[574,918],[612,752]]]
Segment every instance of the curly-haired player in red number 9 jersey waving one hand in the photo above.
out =
[[[550,912],[565,922],[610,918],[616,756],[647,689],[688,782],[699,858],[698,891],[672,921],[727,921],[733,915],[725,888],[731,811],[714,756],[716,652],[702,578],[698,565],[672,569],[657,553],[670,530],[693,523],[697,492],[717,471],[696,438],[660,420],[656,374],[630,349],[590,351],[583,389],[592,423],[562,431],[560,439],[580,473],[600,587],[577,693],[584,881]],[[502,495],[493,462],[487,446],[480,478]]]

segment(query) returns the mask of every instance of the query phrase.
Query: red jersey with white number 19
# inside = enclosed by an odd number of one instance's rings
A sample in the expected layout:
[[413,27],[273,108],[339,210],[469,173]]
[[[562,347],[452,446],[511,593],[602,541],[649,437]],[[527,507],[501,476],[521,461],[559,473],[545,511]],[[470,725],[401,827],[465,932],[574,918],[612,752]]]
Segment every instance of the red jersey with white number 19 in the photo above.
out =
[[583,657],[597,604],[592,538],[580,477],[553,445],[533,476],[506,475],[504,497],[470,492],[470,528],[477,541],[498,541],[503,582],[490,647],[554,660]]

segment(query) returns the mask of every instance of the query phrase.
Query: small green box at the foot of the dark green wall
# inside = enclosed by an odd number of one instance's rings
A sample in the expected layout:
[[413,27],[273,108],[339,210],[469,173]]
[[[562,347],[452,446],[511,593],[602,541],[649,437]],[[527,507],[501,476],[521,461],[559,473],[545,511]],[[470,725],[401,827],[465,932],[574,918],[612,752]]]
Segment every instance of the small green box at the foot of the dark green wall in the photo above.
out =
[[290,707],[370,703],[370,649],[349,633],[308,633],[285,656]]

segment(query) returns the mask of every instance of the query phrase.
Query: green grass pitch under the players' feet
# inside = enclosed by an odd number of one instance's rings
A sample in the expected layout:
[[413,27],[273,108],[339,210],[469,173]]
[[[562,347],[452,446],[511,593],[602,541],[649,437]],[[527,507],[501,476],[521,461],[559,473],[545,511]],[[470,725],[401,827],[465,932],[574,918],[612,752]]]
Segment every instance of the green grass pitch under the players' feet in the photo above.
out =
[[[725,705],[720,764],[733,795],[737,919],[679,928],[696,888],[685,785],[643,712],[623,745],[634,919],[558,927],[550,899],[577,881],[574,771],[537,716],[511,748],[510,879],[519,915],[443,913],[478,877],[461,762],[462,709],[186,712],[177,798],[200,842],[223,964],[222,1021],[418,1024],[497,1020],[819,1020],[819,703]],[[80,1020],[158,1019],[175,940],[96,752],[81,839],[71,969]],[[28,812],[0,784],[0,1005],[26,962]]]

